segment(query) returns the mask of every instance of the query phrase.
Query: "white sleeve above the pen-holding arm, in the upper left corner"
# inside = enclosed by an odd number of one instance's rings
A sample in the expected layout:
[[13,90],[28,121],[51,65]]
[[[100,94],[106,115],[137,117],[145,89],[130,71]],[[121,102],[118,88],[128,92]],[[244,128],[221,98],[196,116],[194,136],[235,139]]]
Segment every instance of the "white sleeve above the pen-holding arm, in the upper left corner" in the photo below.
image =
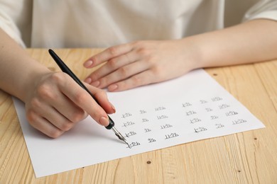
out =
[[22,47],[23,35],[31,25],[31,0],[1,0],[0,2],[0,28]]

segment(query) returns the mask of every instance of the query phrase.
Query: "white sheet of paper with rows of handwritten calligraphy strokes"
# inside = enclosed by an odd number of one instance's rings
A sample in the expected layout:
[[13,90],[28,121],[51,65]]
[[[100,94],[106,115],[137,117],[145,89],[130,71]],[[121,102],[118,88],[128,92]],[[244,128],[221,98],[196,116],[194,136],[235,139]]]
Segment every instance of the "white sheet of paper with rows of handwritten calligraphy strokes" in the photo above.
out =
[[129,146],[90,117],[50,139],[28,124],[23,103],[14,98],[36,177],[264,127],[202,69],[108,96],[117,110],[111,115],[116,129]]

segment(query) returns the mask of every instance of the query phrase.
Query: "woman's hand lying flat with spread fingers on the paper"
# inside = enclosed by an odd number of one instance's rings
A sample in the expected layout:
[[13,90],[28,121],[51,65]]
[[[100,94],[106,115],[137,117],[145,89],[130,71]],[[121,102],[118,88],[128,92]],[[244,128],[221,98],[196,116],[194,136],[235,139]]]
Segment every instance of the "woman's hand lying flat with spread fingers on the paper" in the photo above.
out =
[[185,40],[137,41],[109,47],[85,62],[87,68],[104,63],[85,82],[123,91],[166,81],[195,69],[196,53],[197,47]]

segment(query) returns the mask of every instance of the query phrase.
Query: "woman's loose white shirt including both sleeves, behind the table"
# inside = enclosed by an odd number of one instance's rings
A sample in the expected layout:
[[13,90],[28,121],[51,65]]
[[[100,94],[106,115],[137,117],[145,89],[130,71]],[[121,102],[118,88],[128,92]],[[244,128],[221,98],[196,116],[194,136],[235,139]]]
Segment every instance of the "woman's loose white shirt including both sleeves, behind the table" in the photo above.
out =
[[[23,47],[109,47],[134,40],[179,39],[224,28],[226,2],[0,0],[0,28]],[[239,7],[237,3],[238,11]],[[243,21],[277,21],[277,1],[261,0],[244,15]]]

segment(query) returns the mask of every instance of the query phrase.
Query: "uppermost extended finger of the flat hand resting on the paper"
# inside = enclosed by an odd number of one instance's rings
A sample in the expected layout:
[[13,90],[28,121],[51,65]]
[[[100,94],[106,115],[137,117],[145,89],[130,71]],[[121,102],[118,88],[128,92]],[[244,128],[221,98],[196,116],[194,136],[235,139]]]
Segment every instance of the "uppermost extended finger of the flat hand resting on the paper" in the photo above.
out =
[[87,59],[87,61],[84,63],[84,67],[95,67],[98,64],[107,62],[109,59],[119,57],[122,54],[126,54],[127,52],[130,52],[132,49],[132,43],[126,43],[122,45],[115,45],[113,47],[109,47],[106,50],[99,52],[98,54],[95,54],[94,56]]

